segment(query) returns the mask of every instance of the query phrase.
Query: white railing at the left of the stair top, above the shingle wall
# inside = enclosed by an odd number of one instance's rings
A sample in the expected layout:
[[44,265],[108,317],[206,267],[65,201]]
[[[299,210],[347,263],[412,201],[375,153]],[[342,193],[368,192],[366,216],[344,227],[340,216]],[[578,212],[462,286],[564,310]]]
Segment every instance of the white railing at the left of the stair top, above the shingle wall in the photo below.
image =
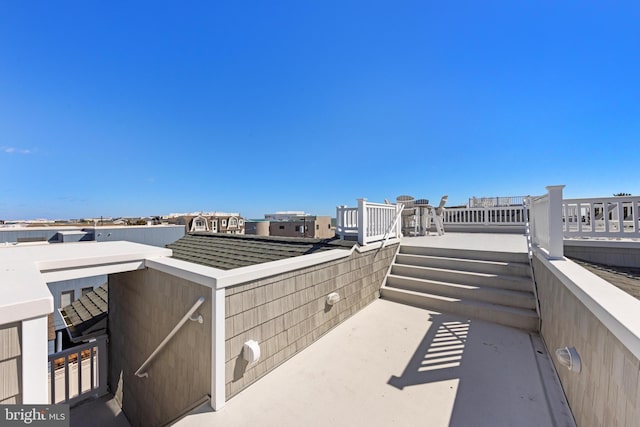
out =
[[355,237],[360,245],[400,237],[402,205],[370,203],[358,199],[357,208],[336,208],[336,235],[341,239]]

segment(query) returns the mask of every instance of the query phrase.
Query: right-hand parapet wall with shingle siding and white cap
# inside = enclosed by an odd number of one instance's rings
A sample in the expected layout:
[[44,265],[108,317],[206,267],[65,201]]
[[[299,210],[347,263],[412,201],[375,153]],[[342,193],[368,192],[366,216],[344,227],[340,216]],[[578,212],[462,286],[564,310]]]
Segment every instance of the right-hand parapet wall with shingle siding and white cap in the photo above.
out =
[[[640,301],[569,260],[550,262],[536,256],[533,263],[541,334],[577,425],[636,425],[640,420],[640,337],[633,316],[638,315],[634,308],[640,308]],[[619,307],[627,317],[611,307]],[[578,351],[581,372],[558,363],[555,350],[566,346]]]

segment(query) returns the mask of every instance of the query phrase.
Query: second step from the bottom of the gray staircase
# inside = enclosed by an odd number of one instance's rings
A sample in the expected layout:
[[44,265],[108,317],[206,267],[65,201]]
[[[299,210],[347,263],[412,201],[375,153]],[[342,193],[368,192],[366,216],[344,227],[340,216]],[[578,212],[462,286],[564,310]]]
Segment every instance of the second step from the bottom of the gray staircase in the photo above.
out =
[[533,296],[533,292],[512,291],[458,283],[439,282],[435,280],[414,279],[411,277],[396,276],[393,274],[387,276],[385,286],[530,310],[535,310],[536,308],[536,300]]

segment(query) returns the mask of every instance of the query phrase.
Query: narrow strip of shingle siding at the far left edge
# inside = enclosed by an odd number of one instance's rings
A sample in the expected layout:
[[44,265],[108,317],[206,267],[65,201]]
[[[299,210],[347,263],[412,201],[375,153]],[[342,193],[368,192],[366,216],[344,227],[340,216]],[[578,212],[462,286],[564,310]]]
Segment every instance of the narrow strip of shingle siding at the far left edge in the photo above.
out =
[[0,326],[0,405],[22,403],[20,323]]

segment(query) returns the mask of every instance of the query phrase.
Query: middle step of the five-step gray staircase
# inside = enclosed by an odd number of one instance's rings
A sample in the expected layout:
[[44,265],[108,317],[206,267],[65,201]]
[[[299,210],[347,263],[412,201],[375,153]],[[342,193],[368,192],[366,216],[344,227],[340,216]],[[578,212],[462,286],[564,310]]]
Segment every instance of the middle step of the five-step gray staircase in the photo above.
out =
[[531,292],[533,287],[531,279],[525,277],[458,271],[444,268],[419,267],[415,265],[393,264],[391,266],[390,273],[396,276],[412,277],[416,279],[435,280],[439,282],[458,283],[464,285],[487,286],[490,288],[510,289],[513,291]]

